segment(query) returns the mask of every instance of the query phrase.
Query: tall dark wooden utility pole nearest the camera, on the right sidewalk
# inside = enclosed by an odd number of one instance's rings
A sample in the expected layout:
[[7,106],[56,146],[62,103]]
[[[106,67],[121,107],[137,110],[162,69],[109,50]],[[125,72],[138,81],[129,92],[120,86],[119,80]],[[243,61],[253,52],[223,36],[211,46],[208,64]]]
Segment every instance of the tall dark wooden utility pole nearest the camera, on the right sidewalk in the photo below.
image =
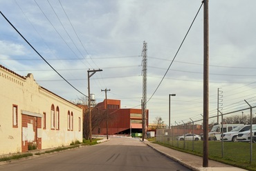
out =
[[209,119],[209,0],[203,0],[203,167],[208,168]]

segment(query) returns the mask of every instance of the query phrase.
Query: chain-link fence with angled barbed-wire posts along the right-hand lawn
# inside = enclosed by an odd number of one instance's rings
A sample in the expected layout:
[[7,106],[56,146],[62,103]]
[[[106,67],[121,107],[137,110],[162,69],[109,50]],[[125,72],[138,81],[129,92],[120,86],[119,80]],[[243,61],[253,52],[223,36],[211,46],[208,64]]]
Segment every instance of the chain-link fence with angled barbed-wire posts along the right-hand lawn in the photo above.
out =
[[[250,125],[250,128],[253,127],[253,121],[256,121],[256,117],[253,118],[253,108],[256,108],[255,99],[248,101],[244,100],[240,103],[236,103],[234,106],[237,108],[227,108],[227,110],[219,111],[218,115],[209,117],[209,119],[217,119],[219,123],[219,132],[208,133],[208,149],[209,155],[211,157],[223,158],[226,157],[232,161],[241,161],[250,162],[256,161],[256,143],[253,143],[253,139],[256,141],[256,130],[250,131],[249,141],[246,142],[232,142],[232,141],[223,141],[219,137],[223,133],[230,131],[231,127],[235,128],[237,125]],[[228,121],[225,119],[227,116],[232,114],[243,114],[244,112],[250,113],[250,118],[247,119],[244,123],[233,123],[228,124]],[[243,117],[242,117],[243,118]],[[163,128],[156,130],[156,141],[158,143],[163,143],[165,145],[170,145],[174,148],[181,148],[184,150],[190,150],[192,152],[203,154],[203,117],[197,121],[192,121],[184,123],[176,122],[171,124],[170,128]],[[216,125],[216,124],[215,124]],[[212,129],[213,125],[208,125],[208,131]],[[215,126],[216,127],[216,126]],[[254,148],[253,148],[254,147]],[[253,153],[255,157],[253,157]],[[238,159],[237,157],[243,156],[243,159]]]

